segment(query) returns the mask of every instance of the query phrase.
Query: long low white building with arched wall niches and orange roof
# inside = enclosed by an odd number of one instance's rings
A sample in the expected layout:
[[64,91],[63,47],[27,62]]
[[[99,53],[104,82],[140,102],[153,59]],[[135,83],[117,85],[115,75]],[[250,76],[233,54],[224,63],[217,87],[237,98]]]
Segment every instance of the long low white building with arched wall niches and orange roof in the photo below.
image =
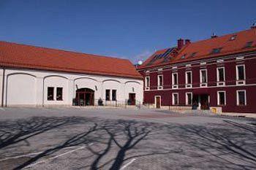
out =
[[0,42],[1,107],[142,104],[143,80],[131,62]]

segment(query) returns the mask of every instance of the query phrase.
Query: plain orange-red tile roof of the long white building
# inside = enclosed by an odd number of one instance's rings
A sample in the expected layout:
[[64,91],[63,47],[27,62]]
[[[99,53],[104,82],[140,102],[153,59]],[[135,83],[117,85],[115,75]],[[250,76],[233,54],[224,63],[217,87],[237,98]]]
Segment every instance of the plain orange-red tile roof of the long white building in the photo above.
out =
[[12,42],[0,42],[0,66],[142,78],[135,66],[127,59],[20,45]]

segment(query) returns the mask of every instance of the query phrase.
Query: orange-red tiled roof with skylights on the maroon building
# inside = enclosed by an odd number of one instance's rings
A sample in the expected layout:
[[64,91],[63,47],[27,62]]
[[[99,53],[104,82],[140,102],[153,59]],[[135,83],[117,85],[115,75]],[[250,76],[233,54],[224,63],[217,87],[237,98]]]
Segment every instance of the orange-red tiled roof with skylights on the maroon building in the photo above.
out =
[[167,49],[158,50],[143,62],[138,69],[196,61],[256,50],[256,28],[251,28],[234,34],[227,34],[225,36],[213,37],[198,42],[187,43],[181,50],[178,50],[177,47],[173,47],[173,53],[168,54],[167,57],[163,55],[166,50]]

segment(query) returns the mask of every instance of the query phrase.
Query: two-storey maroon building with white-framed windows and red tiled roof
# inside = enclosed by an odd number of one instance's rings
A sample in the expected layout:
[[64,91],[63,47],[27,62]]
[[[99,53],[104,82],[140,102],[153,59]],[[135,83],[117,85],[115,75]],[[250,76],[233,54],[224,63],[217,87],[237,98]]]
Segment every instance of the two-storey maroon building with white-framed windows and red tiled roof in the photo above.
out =
[[256,27],[198,42],[178,39],[138,71],[144,104],[256,113]]

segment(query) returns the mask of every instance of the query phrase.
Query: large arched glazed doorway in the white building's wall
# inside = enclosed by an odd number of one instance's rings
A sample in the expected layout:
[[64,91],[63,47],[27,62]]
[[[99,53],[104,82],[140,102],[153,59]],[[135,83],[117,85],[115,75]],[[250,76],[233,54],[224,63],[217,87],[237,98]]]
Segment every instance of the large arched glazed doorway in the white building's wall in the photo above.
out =
[[94,106],[94,90],[80,88],[75,91],[76,106]]

